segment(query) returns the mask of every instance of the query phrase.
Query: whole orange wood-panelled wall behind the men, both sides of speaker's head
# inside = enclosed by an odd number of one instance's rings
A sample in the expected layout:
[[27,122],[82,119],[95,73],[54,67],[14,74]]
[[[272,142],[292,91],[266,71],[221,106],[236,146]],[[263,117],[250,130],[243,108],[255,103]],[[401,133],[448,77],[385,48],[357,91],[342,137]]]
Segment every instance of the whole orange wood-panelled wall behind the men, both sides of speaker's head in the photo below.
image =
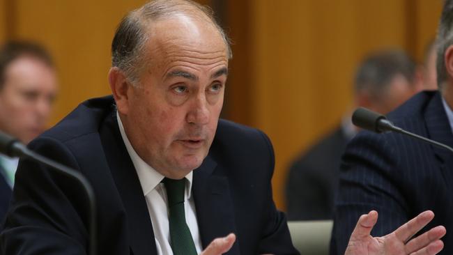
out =
[[[38,40],[55,56],[61,90],[50,124],[82,100],[109,93],[114,29],[128,10],[146,1],[0,0],[0,41]],[[272,139],[279,208],[284,208],[284,179],[293,157],[335,127],[348,109],[358,61],[381,47],[402,47],[422,59],[441,5],[442,0],[230,0],[222,5],[234,41],[226,116],[259,127]]]

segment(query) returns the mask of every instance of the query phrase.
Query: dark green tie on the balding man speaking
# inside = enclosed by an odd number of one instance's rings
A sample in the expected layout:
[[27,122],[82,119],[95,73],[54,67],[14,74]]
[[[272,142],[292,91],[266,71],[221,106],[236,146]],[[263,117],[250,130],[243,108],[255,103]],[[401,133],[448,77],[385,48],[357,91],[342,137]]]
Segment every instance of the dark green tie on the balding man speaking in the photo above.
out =
[[170,226],[170,245],[174,255],[197,255],[190,229],[185,222],[184,192],[185,178],[164,178],[167,190]]

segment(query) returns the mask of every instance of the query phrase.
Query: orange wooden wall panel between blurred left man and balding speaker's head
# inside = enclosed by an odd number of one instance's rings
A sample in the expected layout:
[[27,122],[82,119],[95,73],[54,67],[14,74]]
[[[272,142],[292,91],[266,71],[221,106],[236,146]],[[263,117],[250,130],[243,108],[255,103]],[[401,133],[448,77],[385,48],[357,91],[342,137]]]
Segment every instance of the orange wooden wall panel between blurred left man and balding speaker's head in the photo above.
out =
[[114,29],[136,1],[17,0],[14,38],[43,43],[54,54],[61,84],[52,123],[79,102],[109,93]]

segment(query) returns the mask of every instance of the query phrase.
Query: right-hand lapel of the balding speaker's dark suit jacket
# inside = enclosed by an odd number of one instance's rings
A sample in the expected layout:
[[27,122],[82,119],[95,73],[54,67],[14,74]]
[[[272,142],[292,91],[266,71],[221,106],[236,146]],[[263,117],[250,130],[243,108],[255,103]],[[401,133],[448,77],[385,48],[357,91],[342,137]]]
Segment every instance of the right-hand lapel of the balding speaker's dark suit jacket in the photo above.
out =
[[[237,233],[229,182],[224,176],[212,174],[216,167],[217,162],[208,155],[203,164],[194,170],[192,194],[204,249],[215,238]],[[239,254],[237,240],[227,254]]]

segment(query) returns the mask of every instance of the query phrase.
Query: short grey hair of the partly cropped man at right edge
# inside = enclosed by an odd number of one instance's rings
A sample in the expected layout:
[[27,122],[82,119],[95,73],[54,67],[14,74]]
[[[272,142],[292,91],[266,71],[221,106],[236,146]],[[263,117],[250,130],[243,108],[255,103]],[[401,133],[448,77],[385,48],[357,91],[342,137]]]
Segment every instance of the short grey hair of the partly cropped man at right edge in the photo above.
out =
[[442,15],[440,16],[436,37],[436,70],[437,83],[440,89],[442,88],[443,82],[448,78],[444,55],[450,45],[453,45],[453,1],[446,0],[443,6]]

